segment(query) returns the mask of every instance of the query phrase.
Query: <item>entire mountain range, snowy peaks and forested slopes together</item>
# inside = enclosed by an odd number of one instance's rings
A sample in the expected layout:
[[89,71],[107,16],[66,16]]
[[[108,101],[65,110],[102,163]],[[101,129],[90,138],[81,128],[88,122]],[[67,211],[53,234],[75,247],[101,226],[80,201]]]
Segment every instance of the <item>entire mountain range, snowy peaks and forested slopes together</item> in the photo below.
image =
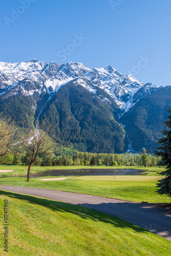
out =
[[110,66],[0,62],[1,114],[18,125],[46,118],[57,124],[58,142],[79,151],[152,152],[170,105],[171,87],[144,84]]

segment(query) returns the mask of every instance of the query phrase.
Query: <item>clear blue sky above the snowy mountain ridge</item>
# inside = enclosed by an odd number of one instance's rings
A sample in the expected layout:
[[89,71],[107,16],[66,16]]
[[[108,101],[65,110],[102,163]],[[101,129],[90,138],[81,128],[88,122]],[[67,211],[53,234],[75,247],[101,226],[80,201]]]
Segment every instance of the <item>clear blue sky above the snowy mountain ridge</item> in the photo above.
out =
[[25,1],[1,1],[0,61],[110,65],[143,82],[171,85],[170,0]]

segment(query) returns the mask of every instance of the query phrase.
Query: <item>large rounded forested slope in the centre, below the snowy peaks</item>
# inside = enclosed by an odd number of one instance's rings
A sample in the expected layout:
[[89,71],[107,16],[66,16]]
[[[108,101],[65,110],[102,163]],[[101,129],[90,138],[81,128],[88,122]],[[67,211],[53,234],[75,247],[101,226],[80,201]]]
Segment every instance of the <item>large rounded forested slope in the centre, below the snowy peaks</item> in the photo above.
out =
[[59,142],[72,143],[78,151],[121,153],[125,149],[125,131],[112,109],[81,86],[62,87],[41,118],[58,123]]

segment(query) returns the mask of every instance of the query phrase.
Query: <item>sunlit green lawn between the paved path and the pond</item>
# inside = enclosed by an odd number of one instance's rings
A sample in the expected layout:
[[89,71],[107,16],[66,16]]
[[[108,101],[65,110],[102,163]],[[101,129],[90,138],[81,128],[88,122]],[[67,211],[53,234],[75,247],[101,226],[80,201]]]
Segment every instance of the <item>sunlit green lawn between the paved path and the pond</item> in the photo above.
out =
[[[162,176],[82,176],[58,181],[9,177],[1,178],[0,185],[38,187],[103,196],[132,202],[171,203],[165,195],[156,193],[156,183]],[[22,192],[21,192],[22,193]]]

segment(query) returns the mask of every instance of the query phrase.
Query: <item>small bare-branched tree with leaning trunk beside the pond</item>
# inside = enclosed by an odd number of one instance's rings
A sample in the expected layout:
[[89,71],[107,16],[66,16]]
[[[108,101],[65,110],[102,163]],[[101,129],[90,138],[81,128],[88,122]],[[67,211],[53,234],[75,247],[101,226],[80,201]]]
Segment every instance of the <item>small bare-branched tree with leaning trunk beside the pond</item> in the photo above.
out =
[[47,125],[46,120],[42,121],[41,124],[37,121],[34,128],[29,125],[27,137],[23,136],[23,146],[27,152],[31,153],[27,181],[30,181],[30,169],[37,156],[54,153],[55,127],[54,125]]

